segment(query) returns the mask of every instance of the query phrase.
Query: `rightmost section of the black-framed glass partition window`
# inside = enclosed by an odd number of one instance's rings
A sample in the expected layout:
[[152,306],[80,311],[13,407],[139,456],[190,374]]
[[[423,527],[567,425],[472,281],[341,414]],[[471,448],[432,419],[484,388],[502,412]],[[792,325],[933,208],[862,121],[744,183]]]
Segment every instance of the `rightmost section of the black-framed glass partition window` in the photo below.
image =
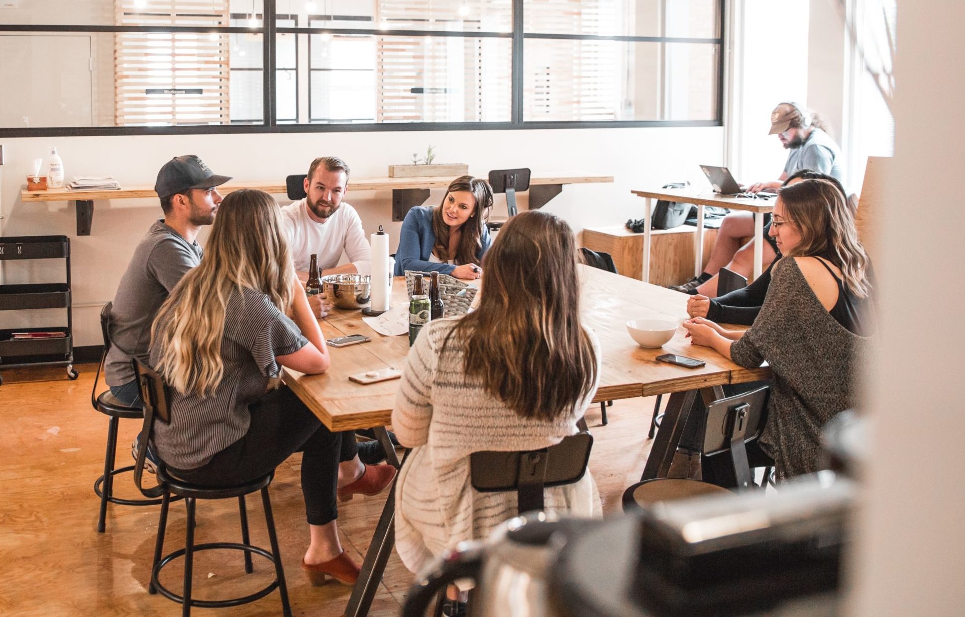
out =
[[523,120],[717,120],[719,9],[719,0],[525,3]]

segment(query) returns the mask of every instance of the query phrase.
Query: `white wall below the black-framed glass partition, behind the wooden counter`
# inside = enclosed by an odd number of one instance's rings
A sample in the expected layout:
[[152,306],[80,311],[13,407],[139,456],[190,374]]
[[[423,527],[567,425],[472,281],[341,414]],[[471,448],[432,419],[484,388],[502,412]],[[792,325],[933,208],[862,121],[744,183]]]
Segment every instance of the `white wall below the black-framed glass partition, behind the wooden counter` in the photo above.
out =
[[[100,343],[99,308],[114,297],[134,247],[161,211],[156,200],[95,201],[92,234],[77,237],[72,204],[19,199],[25,178],[32,173],[31,161],[45,156],[51,146],[57,146],[68,177],[110,174],[122,184],[152,184],[171,156],[188,153],[200,155],[216,174],[244,180],[280,181],[288,174],[304,174],[314,157],[325,154],[345,158],[355,176],[385,175],[388,165],[410,161],[413,151],[425,151],[429,144],[435,146],[437,162],[467,163],[476,174],[530,167],[535,173],[615,176],[613,184],[566,186],[546,206],[576,231],[641,218],[643,200],[630,195],[632,188],[679,179],[706,185],[698,164],[720,164],[724,148],[721,128],[24,138],[0,144],[7,159],[0,167],[0,214],[6,215],[0,220],[0,233],[71,238],[75,345]],[[348,188],[346,201],[358,208],[367,232],[383,225],[398,237],[400,224],[391,223],[390,192],[353,194],[350,181]],[[427,203],[441,198],[441,190],[433,191]],[[505,200],[500,203],[505,208]],[[60,268],[53,262],[7,263],[4,271],[7,282],[43,282],[62,277]],[[0,312],[0,320],[7,320],[0,321],[0,328],[51,325],[49,319],[37,313]]]

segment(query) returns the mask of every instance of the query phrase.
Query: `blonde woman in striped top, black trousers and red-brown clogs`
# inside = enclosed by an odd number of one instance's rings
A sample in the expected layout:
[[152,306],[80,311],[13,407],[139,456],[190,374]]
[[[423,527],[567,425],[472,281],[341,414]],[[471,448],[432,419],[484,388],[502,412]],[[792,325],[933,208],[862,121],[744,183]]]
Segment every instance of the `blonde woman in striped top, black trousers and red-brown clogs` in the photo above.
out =
[[268,390],[282,366],[310,374],[329,366],[270,195],[242,190],[221,202],[201,263],[158,311],[151,363],[175,389],[171,423],[154,427],[164,464],[188,482],[232,486],[302,452],[311,538],[302,569],[316,584],[354,584],[359,569],[339,544],[336,496],[374,495],[395,468],[362,465],[351,432],[330,432],[290,389]]

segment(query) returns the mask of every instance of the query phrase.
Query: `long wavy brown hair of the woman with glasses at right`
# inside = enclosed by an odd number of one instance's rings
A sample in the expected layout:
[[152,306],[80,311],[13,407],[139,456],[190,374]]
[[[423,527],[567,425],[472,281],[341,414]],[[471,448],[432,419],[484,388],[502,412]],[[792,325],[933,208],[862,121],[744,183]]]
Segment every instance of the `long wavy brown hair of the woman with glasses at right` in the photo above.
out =
[[786,256],[824,257],[841,269],[841,280],[851,293],[868,297],[868,255],[841,189],[828,180],[812,178],[789,184],[778,195],[787,218],[801,230],[801,241]]

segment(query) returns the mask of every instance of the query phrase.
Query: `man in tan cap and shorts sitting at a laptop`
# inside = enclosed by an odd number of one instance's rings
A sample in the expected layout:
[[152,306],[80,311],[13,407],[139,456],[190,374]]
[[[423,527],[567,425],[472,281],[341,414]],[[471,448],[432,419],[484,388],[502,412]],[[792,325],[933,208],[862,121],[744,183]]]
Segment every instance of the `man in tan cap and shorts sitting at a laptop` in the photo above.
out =
[[[829,174],[844,182],[844,160],[841,148],[824,130],[824,123],[812,112],[791,101],[778,104],[771,112],[771,131],[788,150],[784,172],[777,180],[757,182],[746,187],[748,193],[777,191],[787,176],[799,170],[812,170]],[[768,216],[769,219],[769,216]],[[766,268],[777,256],[777,247],[767,233],[770,221],[764,228],[764,246],[761,255]],[[695,277],[671,289],[689,294],[701,294],[713,298],[717,295],[717,272],[721,267],[750,277],[754,270],[754,239],[741,246],[743,238],[754,235],[754,215],[751,212],[731,212],[724,217],[713,251],[700,277]],[[729,263],[730,262],[730,263]]]

